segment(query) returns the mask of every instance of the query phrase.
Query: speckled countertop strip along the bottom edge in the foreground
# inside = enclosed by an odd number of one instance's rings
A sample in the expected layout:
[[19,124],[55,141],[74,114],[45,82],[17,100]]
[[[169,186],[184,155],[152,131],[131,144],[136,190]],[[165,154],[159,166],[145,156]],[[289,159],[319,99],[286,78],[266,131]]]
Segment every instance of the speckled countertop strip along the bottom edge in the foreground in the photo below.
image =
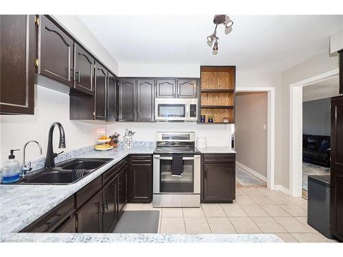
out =
[[11,233],[5,243],[282,243],[274,234]]

